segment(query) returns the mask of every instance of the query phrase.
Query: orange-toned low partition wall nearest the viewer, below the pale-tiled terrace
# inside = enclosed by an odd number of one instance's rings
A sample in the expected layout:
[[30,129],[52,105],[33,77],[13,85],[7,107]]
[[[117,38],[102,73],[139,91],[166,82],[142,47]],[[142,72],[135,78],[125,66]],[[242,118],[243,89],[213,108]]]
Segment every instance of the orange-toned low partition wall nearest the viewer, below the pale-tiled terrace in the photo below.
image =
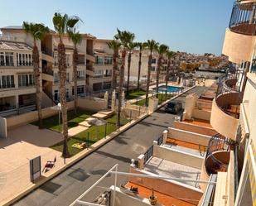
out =
[[[135,174],[148,174],[144,170],[134,170],[130,167],[130,172]],[[191,204],[197,204],[198,200],[203,195],[200,189],[196,189],[192,186],[181,184],[173,180],[157,180],[152,178],[139,178],[130,177],[130,182],[142,185],[147,188],[153,188],[162,194],[171,195],[171,197],[176,199],[187,199],[187,202]],[[194,201],[193,201],[194,200]]]

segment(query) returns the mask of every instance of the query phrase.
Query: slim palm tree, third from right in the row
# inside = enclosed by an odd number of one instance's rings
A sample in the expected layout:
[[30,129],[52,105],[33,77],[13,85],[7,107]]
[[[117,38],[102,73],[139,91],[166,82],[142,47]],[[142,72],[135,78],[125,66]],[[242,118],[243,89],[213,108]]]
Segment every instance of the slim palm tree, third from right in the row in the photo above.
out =
[[145,43],[145,47],[147,50],[149,50],[149,55],[148,55],[148,61],[147,61],[147,89],[146,89],[146,100],[145,100],[145,105],[148,105],[148,92],[149,92],[149,84],[150,84],[150,74],[151,74],[151,69],[152,69],[152,52],[153,50],[156,50],[158,46],[157,41],[154,40],[147,40]]

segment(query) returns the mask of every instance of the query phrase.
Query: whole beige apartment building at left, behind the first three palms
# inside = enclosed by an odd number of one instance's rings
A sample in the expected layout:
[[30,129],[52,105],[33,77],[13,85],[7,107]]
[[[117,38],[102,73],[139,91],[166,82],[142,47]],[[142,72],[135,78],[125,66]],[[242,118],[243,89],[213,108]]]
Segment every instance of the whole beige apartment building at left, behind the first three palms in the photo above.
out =
[[[32,66],[33,39],[22,26],[7,26],[1,29],[0,39],[0,114],[2,117],[36,109],[36,88]],[[89,34],[82,34],[78,48],[78,95],[85,95],[89,89],[90,77],[94,76],[94,40]],[[41,57],[42,106],[49,107],[59,102],[59,74],[57,45],[59,38],[51,31],[44,40],[36,41]],[[66,50],[66,97],[74,95],[73,50],[68,36],[63,37]]]

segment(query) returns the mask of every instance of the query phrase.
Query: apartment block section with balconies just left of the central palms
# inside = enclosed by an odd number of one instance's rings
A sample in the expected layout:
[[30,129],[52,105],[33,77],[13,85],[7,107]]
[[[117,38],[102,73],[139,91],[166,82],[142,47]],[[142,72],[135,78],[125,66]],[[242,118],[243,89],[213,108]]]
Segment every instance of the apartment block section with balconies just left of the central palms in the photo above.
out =
[[104,93],[111,89],[114,51],[109,48],[109,41],[94,41],[94,74],[89,76],[89,92]]

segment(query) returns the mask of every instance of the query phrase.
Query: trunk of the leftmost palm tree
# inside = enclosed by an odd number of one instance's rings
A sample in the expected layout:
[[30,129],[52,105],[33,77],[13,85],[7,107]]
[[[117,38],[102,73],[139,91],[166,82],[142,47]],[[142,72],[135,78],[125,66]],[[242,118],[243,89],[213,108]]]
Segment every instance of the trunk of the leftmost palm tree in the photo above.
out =
[[37,115],[39,121],[39,128],[43,127],[42,125],[42,114],[41,114],[41,72],[39,69],[39,52],[36,46],[36,41],[34,42],[33,46],[33,69],[34,69],[34,76],[35,76],[35,84],[36,84],[36,108],[37,108]]

